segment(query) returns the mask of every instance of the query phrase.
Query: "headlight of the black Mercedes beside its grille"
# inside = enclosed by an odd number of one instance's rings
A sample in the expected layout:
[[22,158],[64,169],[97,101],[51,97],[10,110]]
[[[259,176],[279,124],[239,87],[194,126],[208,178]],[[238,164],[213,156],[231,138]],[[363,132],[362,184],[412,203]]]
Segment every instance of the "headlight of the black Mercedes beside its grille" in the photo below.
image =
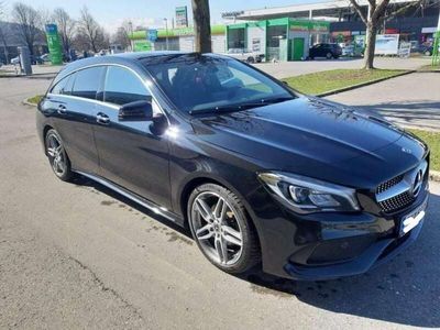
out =
[[355,190],[287,173],[265,172],[258,178],[284,204],[298,213],[356,211]]

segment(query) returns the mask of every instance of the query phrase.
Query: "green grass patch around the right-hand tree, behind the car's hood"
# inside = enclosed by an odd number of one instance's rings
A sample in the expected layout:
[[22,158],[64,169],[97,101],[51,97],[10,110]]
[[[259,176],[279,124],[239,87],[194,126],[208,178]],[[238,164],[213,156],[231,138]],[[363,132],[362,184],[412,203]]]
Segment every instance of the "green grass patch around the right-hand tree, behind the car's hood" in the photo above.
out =
[[283,79],[296,90],[308,95],[320,95],[352,85],[394,77],[404,70],[336,69]]

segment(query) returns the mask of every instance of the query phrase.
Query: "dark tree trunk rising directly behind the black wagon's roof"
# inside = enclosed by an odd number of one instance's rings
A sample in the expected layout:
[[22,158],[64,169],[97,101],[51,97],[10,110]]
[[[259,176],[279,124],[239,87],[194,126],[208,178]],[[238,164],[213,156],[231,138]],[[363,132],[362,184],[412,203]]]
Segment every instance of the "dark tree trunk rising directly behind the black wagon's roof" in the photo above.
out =
[[193,0],[196,52],[211,53],[211,20],[208,0]]

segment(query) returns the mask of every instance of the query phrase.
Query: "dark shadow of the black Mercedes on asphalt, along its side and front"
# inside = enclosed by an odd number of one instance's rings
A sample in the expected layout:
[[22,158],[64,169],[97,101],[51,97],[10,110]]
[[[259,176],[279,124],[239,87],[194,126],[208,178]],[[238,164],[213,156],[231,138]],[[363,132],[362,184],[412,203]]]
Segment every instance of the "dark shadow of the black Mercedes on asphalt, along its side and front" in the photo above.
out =
[[[193,240],[190,232],[136,202],[82,176],[73,184],[106,194]],[[414,327],[440,327],[440,196],[431,194],[418,240],[393,261],[359,276],[296,282],[255,267],[238,276],[260,295],[297,298],[314,307]]]

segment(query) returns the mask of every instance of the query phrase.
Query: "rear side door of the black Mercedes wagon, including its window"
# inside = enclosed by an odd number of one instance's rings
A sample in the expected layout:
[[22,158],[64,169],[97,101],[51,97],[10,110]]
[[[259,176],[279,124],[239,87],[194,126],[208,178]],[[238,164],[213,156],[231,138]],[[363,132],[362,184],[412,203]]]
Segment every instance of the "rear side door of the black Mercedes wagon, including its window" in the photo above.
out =
[[90,174],[97,174],[99,164],[92,124],[103,73],[102,66],[81,69],[59,81],[47,96],[55,129],[63,139],[73,168]]

